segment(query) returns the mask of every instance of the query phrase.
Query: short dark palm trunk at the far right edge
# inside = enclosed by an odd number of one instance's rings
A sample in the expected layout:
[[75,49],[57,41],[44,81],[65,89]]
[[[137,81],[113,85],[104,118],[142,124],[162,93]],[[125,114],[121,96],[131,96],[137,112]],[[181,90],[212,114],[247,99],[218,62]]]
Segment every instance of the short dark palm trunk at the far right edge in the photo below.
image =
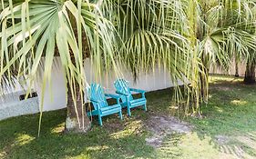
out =
[[243,82],[244,84],[255,84],[255,62],[247,63]]

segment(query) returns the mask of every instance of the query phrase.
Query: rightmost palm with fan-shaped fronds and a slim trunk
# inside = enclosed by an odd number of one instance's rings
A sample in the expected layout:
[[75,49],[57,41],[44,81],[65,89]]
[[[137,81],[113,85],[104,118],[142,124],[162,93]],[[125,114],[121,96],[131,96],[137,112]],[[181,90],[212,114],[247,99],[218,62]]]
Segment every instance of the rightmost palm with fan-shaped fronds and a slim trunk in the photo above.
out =
[[249,49],[255,49],[255,1],[216,0],[192,1],[197,10],[194,16],[200,43],[199,55],[206,75],[200,75],[201,97],[207,101],[209,67],[218,64],[229,68],[233,57],[250,58]]

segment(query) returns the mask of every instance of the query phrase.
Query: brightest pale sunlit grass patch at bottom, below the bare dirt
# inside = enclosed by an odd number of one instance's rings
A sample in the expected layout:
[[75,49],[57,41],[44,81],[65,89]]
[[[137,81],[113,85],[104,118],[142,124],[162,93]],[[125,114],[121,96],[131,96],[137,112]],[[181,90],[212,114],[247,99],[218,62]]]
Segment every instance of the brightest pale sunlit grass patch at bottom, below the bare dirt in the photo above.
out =
[[197,133],[167,137],[158,153],[159,158],[236,158],[231,154],[220,153],[212,144],[210,136],[200,138]]

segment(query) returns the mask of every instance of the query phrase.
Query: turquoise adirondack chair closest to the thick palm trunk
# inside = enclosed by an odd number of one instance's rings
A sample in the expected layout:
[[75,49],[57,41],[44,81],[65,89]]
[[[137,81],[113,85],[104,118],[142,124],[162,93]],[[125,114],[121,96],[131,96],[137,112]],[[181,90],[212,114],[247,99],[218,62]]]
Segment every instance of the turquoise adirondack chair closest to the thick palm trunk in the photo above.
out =
[[[102,125],[102,117],[108,114],[119,114],[120,119],[122,116],[122,106],[120,104],[120,95],[118,94],[104,94],[104,90],[100,84],[90,84],[87,87],[87,94],[89,101],[93,104],[94,110],[87,113],[88,116],[97,115],[98,123]],[[108,105],[107,98],[111,97],[117,100],[117,104]]]

